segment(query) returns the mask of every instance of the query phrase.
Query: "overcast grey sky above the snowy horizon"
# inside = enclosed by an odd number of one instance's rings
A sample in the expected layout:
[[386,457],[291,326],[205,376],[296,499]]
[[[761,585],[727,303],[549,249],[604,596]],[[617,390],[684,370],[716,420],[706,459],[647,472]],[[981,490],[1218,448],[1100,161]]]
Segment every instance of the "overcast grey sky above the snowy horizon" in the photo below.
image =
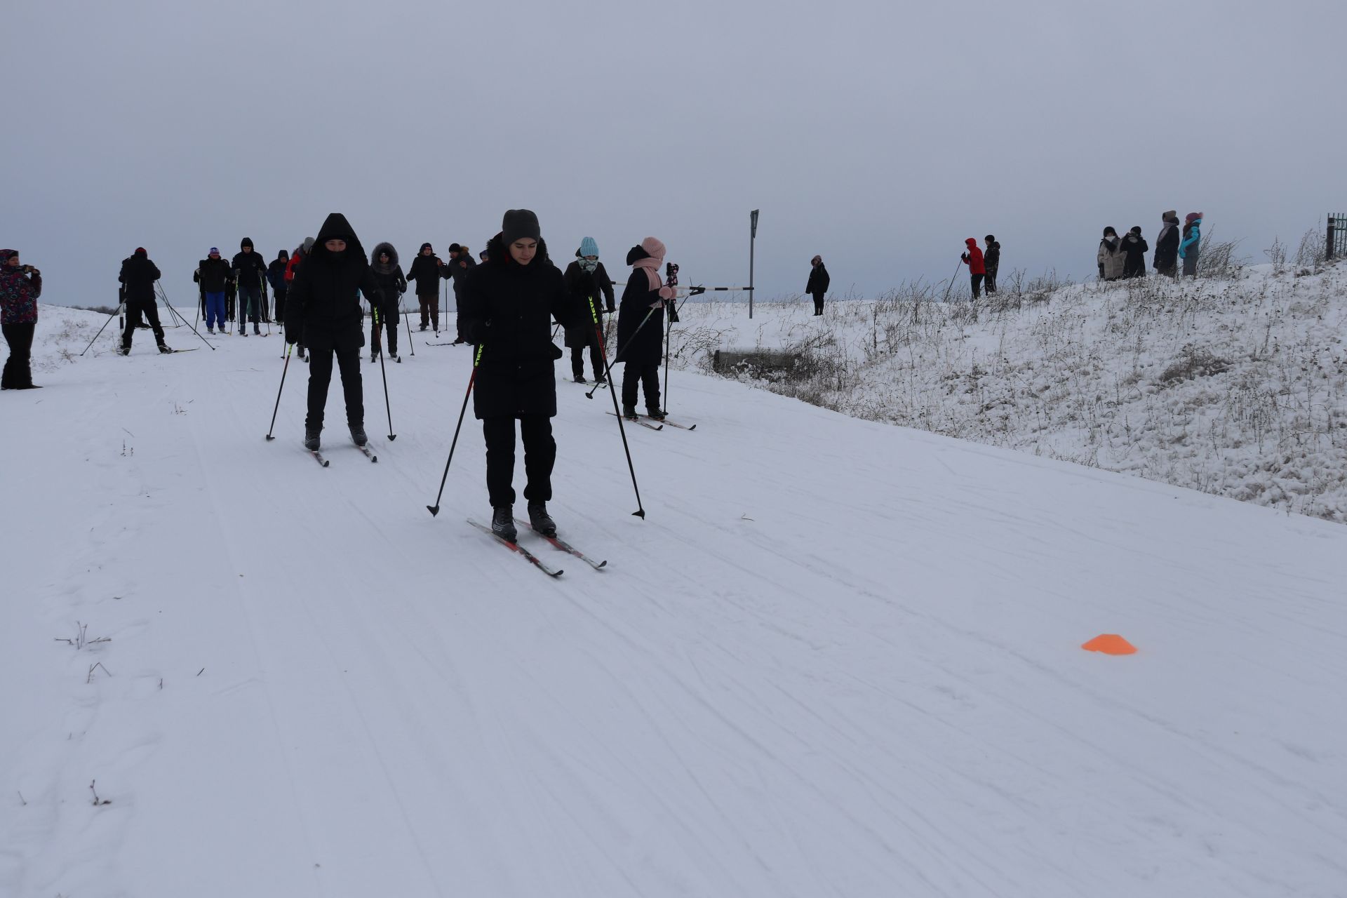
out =
[[1156,3],[8,0],[0,244],[48,302],[114,304],[137,245],[275,258],[342,211],[366,249],[474,253],[508,207],[620,276],[836,292],[1012,268],[1086,277],[1105,225],[1202,210],[1294,249],[1347,207],[1342,0]]

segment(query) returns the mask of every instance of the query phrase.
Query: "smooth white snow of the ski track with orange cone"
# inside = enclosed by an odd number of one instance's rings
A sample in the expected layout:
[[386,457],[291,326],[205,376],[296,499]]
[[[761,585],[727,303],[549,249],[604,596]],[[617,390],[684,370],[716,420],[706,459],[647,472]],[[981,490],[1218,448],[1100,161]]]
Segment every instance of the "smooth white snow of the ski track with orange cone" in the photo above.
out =
[[609,568],[550,580],[463,522],[471,419],[426,512],[466,349],[389,366],[396,442],[366,361],[379,463],[338,427],[325,470],[302,364],[263,440],[276,337],[77,359],[102,318],[42,314],[0,895],[1347,894],[1336,524],[674,372],[644,521],[558,385],[552,509]]

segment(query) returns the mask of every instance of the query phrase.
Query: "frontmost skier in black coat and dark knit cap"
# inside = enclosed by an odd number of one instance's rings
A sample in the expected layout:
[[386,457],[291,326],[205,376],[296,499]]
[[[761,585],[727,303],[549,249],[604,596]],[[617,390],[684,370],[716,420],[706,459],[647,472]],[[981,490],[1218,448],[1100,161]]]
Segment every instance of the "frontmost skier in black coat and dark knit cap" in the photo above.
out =
[[552,498],[556,440],[552,320],[566,323],[570,296],[562,272],[547,256],[537,215],[528,209],[505,213],[501,233],[490,240],[489,261],[467,272],[458,292],[459,334],[477,345],[473,412],[486,440],[486,491],[492,530],[511,543],[515,528],[515,420],[524,440],[524,499],[532,528],[556,534],[547,513]]

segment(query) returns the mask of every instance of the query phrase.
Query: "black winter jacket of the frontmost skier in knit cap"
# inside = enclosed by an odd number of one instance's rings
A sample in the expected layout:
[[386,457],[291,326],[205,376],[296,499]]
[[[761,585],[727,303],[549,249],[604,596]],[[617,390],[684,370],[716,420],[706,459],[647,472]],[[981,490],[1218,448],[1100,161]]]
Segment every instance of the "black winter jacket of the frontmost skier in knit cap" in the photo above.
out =
[[467,272],[458,291],[458,334],[481,345],[473,388],[478,419],[556,415],[552,320],[564,324],[570,296],[562,272],[537,241],[528,265],[511,258],[500,237],[486,245],[490,261]]

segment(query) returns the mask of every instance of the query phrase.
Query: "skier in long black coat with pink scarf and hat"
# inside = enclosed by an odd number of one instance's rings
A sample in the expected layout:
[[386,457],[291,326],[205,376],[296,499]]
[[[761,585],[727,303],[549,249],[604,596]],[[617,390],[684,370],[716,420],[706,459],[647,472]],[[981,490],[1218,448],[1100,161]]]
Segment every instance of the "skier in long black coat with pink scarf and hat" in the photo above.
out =
[[674,288],[660,281],[664,244],[647,237],[626,253],[632,275],[617,310],[617,354],[613,362],[626,362],[622,372],[622,415],[636,417],[636,389],[645,392],[645,413],[663,419],[660,408],[660,358],[664,354],[664,302]]

